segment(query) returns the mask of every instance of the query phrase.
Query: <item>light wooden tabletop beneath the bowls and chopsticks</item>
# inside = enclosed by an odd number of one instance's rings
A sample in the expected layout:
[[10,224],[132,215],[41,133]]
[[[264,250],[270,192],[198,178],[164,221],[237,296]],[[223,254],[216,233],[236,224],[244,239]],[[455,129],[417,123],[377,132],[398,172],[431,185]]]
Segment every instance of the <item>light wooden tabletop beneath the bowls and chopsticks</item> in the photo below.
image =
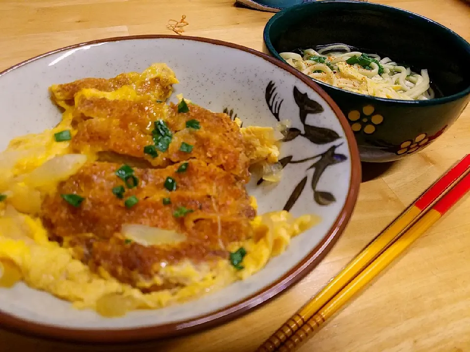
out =
[[[470,41],[463,0],[380,0],[429,17]],[[262,48],[271,13],[234,0],[0,0],[0,71],[69,44],[134,34],[170,34],[187,15],[187,35]],[[3,118],[7,118],[4,116]],[[236,321],[184,338],[92,351],[251,352],[334,276],[454,161],[470,151],[470,107],[422,153],[364,169],[352,220],[326,259],[302,282]],[[0,331],[0,351],[82,347]],[[464,200],[300,352],[470,351],[470,200]]]

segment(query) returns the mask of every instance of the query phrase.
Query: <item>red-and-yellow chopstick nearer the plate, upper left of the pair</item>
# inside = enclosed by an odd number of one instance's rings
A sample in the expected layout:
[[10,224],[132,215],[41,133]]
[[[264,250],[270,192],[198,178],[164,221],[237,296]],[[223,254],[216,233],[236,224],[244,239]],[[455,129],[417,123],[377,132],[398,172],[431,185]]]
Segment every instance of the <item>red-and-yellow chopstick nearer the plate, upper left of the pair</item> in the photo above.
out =
[[288,319],[280,329],[271,335],[257,352],[272,352],[282,345],[320,308],[348,285],[367,265],[384,252],[405,230],[410,228],[420,216],[428,210],[460,178],[470,172],[470,154],[467,154],[455,166],[431,185],[413,204],[387,226],[370,242],[327,286],[303,308]]

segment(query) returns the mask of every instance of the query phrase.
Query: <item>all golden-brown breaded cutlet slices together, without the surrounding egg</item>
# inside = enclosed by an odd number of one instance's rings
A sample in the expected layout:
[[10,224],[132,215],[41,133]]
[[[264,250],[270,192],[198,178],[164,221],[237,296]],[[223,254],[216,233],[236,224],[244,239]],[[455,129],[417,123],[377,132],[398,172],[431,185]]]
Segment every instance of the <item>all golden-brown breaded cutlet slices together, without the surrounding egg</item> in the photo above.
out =
[[[178,112],[178,106],[163,103],[175,83],[170,68],[154,64],[141,74],[86,78],[49,88],[52,100],[66,110],[64,116],[72,118],[71,151],[97,160],[43,200],[41,219],[49,238],[71,248],[95,272],[144,292],[187,285],[184,275],[165,274],[166,264],[168,270],[179,270],[189,261],[199,265],[196,276],[204,275],[208,266],[228,257],[229,244],[252,238],[250,220],[256,211],[244,187],[248,168],[260,160],[276,162],[279,154],[270,128],[240,130],[226,113],[189,102],[188,111]],[[165,138],[171,135],[166,150],[160,148],[156,129],[162,123],[168,129]],[[129,188],[116,175],[123,163],[133,167],[137,187]],[[177,172],[183,164],[188,169]],[[165,188],[167,177],[174,178],[176,190]],[[113,194],[118,186],[125,189],[122,198]],[[61,197],[67,194],[84,200],[75,207]],[[126,207],[132,196],[138,202]],[[181,209],[188,213],[179,216]],[[128,242],[124,232],[129,227],[124,225],[144,225],[134,227],[136,233],[157,237],[169,230],[166,235],[172,240],[184,240]],[[132,231],[127,235],[137,236]]]

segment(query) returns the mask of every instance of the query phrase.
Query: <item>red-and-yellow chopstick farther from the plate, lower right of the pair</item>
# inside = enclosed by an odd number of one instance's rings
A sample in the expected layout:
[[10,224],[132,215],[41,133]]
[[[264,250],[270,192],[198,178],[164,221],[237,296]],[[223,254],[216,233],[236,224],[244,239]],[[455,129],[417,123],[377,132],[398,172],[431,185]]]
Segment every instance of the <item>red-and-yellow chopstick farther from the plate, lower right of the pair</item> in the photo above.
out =
[[354,294],[370,283],[387,265],[393,262],[405,249],[416,241],[427,229],[436,223],[470,190],[470,174],[464,176],[445,196],[438,200],[423,217],[392,243],[365,270],[357,275],[346,287],[338,292],[324,307],[313,315],[277,350],[292,352],[300,343],[312,335],[329,317],[344,306]]

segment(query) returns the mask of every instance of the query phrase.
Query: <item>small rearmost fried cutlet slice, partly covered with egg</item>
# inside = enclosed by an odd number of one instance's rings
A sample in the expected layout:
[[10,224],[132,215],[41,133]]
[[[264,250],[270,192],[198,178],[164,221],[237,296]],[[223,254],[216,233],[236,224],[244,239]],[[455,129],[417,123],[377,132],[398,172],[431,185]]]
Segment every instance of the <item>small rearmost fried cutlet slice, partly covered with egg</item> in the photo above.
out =
[[82,89],[94,88],[112,92],[129,86],[137,95],[149,96],[152,100],[164,101],[172,92],[172,85],[177,84],[175,73],[166,64],[153,64],[142,73],[121,73],[114,78],[84,78],[71,83],[49,87],[51,99],[57,105],[73,106],[75,95]]

